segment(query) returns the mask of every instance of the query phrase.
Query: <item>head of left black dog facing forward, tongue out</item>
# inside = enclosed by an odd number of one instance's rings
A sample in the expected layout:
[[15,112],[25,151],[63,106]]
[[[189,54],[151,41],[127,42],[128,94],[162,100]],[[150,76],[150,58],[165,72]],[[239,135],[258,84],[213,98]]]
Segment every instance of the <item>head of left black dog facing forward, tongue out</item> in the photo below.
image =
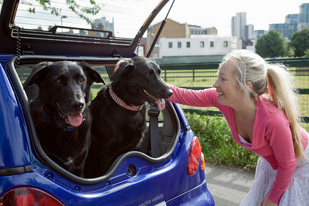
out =
[[23,87],[36,84],[38,100],[49,113],[57,113],[71,126],[79,126],[91,100],[93,82],[104,80],[87,62],[41,62],[34,66]]

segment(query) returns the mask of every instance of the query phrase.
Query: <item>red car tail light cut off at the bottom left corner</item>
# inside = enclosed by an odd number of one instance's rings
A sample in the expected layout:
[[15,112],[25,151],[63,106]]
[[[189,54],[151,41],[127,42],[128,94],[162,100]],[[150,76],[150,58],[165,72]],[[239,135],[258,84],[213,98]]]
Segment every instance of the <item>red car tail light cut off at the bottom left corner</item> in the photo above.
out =
[[17,187],[0,197],[0,206],[63,206],[56,198],[33,187]]

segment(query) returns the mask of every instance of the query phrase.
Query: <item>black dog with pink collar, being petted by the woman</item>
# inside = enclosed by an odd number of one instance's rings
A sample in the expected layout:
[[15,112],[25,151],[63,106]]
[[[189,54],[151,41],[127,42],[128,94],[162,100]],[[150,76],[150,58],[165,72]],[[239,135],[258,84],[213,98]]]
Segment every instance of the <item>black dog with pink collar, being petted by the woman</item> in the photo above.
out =
[[111,84],[105,85],[91,102],[92,143],[86,177],[102,176],[119,155],[138,150],[146,130],[145,102],[163,110],[163,99],[172,95],[160,72],[149,58],[126,60],[111,77]]

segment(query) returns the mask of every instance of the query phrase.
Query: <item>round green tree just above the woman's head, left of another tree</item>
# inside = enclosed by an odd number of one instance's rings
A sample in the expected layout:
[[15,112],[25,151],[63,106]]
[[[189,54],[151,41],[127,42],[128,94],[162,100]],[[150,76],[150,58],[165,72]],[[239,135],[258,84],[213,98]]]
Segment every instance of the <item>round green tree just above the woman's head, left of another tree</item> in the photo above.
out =
[[263,58],[286,56],[287,44],[282,34],[275,30],[271,30],[268,34],[264,34],[258,38],[255,51]]

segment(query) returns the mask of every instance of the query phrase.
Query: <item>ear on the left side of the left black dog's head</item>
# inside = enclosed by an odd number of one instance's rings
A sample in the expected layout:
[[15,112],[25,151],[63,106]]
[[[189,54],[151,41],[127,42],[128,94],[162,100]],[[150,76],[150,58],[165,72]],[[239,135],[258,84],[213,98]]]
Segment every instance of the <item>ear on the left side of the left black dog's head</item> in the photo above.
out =
[[37,65],[35,65],[32,69],[32,72],[30,73],[30,76],[28,76],[27,80],[23,83],[23,88],[36,84],[40,85],[41,82],[45,79],[45,76],[48,71],[48,66],[52,65],[53,62],[40,62]]

